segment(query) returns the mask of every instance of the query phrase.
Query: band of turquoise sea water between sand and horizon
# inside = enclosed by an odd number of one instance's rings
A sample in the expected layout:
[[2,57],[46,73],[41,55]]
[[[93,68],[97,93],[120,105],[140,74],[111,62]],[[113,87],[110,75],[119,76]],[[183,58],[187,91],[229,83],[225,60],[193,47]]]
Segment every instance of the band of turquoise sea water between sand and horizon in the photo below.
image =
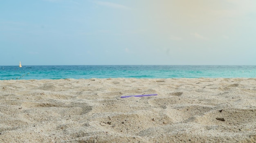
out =
[[70,65],[0,66],[0,80],[91,78],[256,78],[256,66]]

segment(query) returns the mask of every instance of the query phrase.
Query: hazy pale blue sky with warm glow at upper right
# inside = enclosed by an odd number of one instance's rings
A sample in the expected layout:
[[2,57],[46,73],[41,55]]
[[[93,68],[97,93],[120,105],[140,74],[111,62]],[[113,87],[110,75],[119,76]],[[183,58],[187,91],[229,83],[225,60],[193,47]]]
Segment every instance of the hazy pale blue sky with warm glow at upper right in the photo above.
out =
[[256,0],[0,0],[0,65],[256,65]]

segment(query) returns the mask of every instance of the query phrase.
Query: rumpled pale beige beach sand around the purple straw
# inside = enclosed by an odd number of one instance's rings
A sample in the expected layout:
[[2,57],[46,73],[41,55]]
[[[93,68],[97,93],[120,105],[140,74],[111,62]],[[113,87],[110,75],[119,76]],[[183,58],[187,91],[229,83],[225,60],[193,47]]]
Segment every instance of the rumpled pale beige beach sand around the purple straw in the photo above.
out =
[[0,142],[256,143],[256,79],[2,80]]

